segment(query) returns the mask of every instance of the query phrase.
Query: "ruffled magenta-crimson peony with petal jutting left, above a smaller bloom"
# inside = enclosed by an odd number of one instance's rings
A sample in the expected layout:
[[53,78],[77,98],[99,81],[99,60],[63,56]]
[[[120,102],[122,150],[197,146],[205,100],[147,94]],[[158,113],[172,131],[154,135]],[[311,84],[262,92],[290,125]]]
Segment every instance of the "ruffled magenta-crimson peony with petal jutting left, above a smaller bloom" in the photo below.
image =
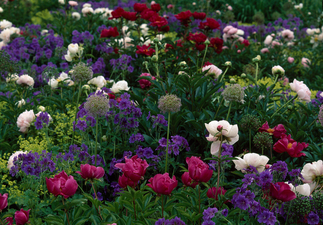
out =
[[138,158],[138,155],[132,156],[131,159],[125,158],[125,161],[126,163],[117,163],[115,167],[121,169],[124,176],[135,183],[142,180],[148,167],[147,161]]

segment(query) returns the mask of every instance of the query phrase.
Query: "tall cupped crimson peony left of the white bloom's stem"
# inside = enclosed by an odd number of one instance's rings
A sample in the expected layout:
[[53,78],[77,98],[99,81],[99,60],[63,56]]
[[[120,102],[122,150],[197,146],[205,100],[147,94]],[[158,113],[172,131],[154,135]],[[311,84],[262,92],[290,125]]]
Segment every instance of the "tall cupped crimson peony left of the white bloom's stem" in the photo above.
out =
[[204,163],[200,158],[196,156],[191,156],[191,158],[186,157],[188,173],[195,181],[208,182],[212,177],[213,170],[209,169],[209,165]]

